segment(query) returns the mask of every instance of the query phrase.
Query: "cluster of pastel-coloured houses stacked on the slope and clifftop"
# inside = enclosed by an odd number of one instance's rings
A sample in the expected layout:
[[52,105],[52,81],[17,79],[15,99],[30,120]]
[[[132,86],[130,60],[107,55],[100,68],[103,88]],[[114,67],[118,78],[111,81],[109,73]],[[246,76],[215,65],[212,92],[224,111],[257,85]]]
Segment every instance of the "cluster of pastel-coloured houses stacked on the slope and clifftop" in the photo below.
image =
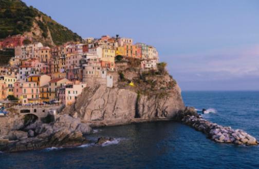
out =
[[[1,48],[14,48],[8,66],[0,67],[0,100],[14,96],[21,104],[59,102],[69,105],[86,86],[102,83],[113,87],[118,55],[141,59],[142,69],[156,69],[155,47],[133,43],[124,37],[86,38],[53,48],[23,35],[1,41]],[[28,41],[27,40],[27,41]]]

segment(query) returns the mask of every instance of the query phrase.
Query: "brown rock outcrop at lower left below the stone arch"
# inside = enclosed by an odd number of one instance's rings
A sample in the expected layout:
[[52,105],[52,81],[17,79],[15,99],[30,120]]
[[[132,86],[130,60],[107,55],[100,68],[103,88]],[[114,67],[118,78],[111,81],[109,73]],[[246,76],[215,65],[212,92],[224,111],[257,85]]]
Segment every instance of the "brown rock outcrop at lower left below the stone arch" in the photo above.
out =
[[78,146],[88,142],[83,135],[91,132],[87,124],[69,115],[60,115],[55,122],[49,124],[37,121],[23,130],[11,131],[8,139],[0,139],[0,151],[17,152],[52,146]]

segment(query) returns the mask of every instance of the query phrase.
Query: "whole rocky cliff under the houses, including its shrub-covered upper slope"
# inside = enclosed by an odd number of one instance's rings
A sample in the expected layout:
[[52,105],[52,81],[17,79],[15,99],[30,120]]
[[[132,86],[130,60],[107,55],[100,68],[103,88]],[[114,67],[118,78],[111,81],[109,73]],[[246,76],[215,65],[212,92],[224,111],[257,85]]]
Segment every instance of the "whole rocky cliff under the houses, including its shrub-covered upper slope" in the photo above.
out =
[[[184,110],[181,90],[167,72],[156,75],[125,68],[118,74],[113,88],[86,88],[62,113],[100,126],[173,119],[179,110]],[[133,87],[128,85],[131,81]]]

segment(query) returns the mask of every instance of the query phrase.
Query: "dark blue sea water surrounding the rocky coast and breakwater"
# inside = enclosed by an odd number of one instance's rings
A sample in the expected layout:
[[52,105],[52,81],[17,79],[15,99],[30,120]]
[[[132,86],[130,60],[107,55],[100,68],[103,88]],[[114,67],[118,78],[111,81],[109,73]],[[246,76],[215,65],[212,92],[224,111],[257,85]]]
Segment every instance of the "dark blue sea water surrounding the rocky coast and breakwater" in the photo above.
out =
[[[182,92],[186,105],[212,108],[204,118],[259,139],[259,92]],[[259,146],[218,144],[176,122],[102,128],[103,146],[0,154],[0,168],[259,168]]]

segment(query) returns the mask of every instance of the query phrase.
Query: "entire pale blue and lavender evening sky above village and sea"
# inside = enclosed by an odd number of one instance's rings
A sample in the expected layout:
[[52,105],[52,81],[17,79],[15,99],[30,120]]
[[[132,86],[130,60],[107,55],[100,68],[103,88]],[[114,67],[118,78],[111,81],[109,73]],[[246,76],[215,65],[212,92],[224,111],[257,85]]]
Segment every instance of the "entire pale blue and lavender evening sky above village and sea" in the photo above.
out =
[[182,91],[259,90],[259,1],[23,1],[83,38],[155,46]]

